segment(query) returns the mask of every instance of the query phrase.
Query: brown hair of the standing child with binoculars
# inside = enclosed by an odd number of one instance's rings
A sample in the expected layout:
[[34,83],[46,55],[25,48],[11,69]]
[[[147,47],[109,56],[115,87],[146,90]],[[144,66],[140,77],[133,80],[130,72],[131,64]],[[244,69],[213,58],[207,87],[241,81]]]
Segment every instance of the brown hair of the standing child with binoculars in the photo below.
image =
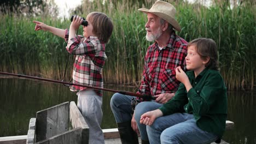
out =
[[92,33],[100,41],[107,43],[113,31],[113,23],[110,18],[106,14],[97,11],[88,14],[87,17],[92,25]]

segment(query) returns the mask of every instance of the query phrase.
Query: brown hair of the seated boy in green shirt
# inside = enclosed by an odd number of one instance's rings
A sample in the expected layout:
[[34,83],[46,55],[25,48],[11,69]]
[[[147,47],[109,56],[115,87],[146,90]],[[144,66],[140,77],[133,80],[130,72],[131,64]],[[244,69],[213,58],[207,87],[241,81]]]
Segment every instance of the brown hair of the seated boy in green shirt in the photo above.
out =
[[207,38],[197,38],[190,41],[187,47],[191,45],[196,47],[197,53],[199,53],[203,60],[206,60],[207,57],[210,58],[208,63],[205,65],[206,68],[214,70],[219,69],[217,46],[214,40]]

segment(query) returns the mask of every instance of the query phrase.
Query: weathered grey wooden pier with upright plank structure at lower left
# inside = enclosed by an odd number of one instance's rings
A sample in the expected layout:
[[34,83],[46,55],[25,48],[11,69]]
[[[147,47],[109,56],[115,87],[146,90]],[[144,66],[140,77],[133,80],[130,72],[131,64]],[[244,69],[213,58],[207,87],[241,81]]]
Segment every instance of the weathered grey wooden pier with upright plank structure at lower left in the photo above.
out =
[[[89,143],[89,127],[74,101],[38,111],[36,118],[31,118],[28,125],[27,135],[0,137],[0,144]],[[233,127],[234,122],[226,121],[226,130]],[[105,144],[121,143],[117,128],[103,129],[103,134]],[[223,140],[220,143],[228,144]]]

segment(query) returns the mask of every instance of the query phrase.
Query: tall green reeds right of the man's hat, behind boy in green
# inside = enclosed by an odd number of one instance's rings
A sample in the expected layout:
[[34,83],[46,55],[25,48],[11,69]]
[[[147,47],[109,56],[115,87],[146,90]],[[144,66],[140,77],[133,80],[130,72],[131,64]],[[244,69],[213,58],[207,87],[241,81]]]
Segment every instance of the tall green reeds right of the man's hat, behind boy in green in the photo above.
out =
[[[177,5],[180,35],[186,40],[212,38],[218,45],[220,71],[229,89],[255,86],[255,5],[211,7]],[[185,16],[185,19],[181,16]]]

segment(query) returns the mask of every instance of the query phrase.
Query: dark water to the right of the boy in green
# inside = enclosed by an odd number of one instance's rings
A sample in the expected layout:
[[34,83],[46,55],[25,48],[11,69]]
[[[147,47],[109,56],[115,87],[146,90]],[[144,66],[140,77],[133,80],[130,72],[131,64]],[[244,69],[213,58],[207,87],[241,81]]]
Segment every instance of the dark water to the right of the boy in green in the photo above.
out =
[[226,131],[224,140],[229,143],[256,143],[256,93],[228,93],[228,119],[235,128]]

